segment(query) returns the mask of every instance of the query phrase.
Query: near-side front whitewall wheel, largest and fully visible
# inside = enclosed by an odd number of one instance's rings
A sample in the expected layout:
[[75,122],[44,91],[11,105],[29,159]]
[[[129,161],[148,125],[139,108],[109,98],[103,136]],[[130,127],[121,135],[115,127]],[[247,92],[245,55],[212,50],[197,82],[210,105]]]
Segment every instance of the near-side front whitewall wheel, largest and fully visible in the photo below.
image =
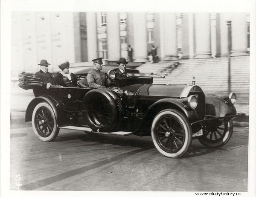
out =
[[178,110],[160,111],[154,118],[151,136],[157,150],[167,157],[183,156],[192,142],[192,129],[186,116]]

